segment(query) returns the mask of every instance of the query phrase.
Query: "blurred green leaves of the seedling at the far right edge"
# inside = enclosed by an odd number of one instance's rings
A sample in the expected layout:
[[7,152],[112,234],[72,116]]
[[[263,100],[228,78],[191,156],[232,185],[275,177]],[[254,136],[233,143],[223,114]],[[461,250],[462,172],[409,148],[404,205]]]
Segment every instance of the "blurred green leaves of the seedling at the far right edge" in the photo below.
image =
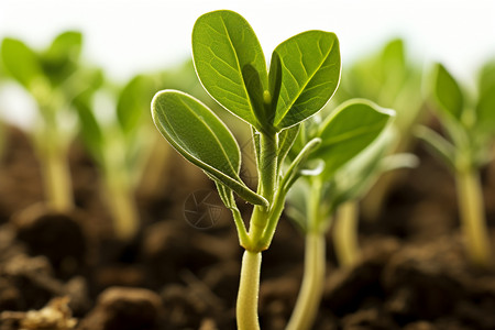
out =
[[477,100],[470,102],[472,98],[444,66],[437,64],[433,69],[431,99],[450,141],[428,128],[418,129],[417,134],[454,170],[477,168],[491,160],[487,155],[495,136],[495,79],[486,73],[492,70],[488,65],[482,72]]

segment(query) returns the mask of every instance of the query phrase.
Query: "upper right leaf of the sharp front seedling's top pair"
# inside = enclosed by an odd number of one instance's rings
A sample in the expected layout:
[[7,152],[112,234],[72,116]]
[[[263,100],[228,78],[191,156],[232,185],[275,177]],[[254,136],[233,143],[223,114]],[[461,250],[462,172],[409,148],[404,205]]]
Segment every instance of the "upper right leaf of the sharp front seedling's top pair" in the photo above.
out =
[[307,31],[274,53],[272,61],[277,58],[282,70],[274,125],[282,130],[311,117],[332,97],[340,79],[339,41],[331,32]]

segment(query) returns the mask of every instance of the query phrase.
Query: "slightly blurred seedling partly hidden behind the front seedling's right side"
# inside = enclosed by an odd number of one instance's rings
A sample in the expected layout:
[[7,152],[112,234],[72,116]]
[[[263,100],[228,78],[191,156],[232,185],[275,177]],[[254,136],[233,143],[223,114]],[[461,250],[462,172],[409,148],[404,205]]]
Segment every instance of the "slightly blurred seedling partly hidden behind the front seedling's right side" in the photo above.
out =
[[[306,249],[302,284],[287,329],[310,329],[315,321],[323,292],[324,233],[330,226],[331,215],[340,204],[359,195],[359,185],[365,185],[365,180],[372,179],[366,176],[369,173],[360,173],[360,167],[377,166],[374,163],[377,162],[378,152],[373,153],[371,160],[361,160],[366,161],[366,164],[354,163],[359,170],[351,169],[350,162],[380,135],[393,116],[392,110],[382,109],[370,101],[351,100],[336,109],[324,121],[307,121],[300,130],[293,152],[311,139],[320,139],[321,143],[308,156],[305,164],[307,169],[302,170],[305,176],[289,194],[289,202],[293,202],[289,216],[297,220],[305,232]],[[378,151],[383,148],[380,146]],[[360,174],[363,182],[343,184],[337,179],[345,170],[352,175]],[[336,187],[338,184],[340,187]]]

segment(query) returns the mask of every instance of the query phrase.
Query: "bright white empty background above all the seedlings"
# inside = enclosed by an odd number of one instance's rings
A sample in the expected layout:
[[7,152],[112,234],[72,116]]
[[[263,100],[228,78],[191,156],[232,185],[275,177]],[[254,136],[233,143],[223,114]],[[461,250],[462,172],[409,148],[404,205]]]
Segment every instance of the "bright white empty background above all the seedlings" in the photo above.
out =
[[114,79],[180,63],[190,54],[195,20],[231,9],[253,26],[266,58],[305,30],[336,32],[342,64],[374,52],[394,36],[428,67],[442,62],[466,84],[495,57],[493,0],[0,0],[0,38],[44,47],[64,30],[85,35],[85,56]]

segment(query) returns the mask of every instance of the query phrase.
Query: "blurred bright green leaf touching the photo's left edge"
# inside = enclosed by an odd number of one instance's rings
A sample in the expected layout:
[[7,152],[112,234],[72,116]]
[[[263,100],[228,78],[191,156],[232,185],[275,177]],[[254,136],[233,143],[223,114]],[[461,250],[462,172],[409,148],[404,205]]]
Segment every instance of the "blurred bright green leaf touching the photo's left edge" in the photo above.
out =
[[26,89],[43,75],[37,55],[23,42],[6,37],[1,48],[2,61],[10,75]]

